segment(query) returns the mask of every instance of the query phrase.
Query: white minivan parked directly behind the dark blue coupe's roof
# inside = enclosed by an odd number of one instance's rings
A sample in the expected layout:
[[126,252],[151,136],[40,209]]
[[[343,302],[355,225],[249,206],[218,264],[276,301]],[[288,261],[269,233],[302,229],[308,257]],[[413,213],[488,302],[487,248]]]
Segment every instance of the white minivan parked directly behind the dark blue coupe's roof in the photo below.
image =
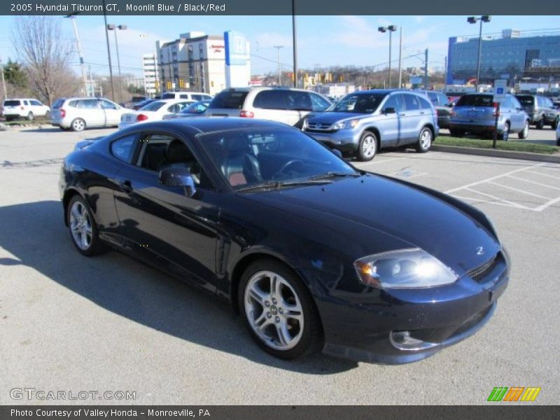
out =
[[332,103],[316,92],[289,87],[237,87],[212,99],[205,116],[260,118],[301,128],[311,111],[325,111]]

